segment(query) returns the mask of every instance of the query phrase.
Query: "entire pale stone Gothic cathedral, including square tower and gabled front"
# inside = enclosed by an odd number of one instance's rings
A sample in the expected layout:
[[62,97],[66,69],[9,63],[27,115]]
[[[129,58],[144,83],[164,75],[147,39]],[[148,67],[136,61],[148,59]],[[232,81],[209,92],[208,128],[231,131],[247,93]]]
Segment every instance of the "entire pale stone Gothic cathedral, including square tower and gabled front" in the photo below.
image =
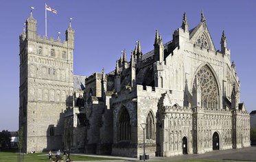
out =
[[[223,31],[216,50],[203,13],[184,13],[170,42],[124,51],[112,72],[73,75],[74,29],[40,37],[32,12],[20,40],[19,127],[23,152],[170,157],[250,146],[250,117]],[[81,43],[81,42],[80,42]],[[81,67],[82,68],[82,67]],[[141,124],[146,127],[142,129]]]

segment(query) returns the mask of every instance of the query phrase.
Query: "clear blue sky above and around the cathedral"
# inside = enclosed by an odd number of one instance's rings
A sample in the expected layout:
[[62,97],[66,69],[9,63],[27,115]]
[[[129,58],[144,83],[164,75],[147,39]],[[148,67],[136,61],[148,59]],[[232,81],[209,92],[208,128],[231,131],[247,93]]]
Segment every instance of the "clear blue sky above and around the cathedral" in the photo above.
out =
[[128,58],[140,40],[142,52],[154,46],[155,30],[163,42],[172,40],[172,33],[181,27],[183,12],[187,13],[189,29],[200,21],[204,10],[211,38],[220,49],[222,30],[226,33],[231,59],[234,60],[240,77],[241,98],[246,109],[255,107],[256,92],[256,1],[165,1],[165,0],[93,0],[93,1],[1,1],[1,113],[0,131],[18,130],[19,126],[19,34],[23,23],[30,15],[38,22],[38,34],[45,35],[45,2],[58,14],[47,12],[47,35],[65,39],[69,18],[75,29],[74,74],[89,76],[105,68],[115,68],[121,51],[126,49]]

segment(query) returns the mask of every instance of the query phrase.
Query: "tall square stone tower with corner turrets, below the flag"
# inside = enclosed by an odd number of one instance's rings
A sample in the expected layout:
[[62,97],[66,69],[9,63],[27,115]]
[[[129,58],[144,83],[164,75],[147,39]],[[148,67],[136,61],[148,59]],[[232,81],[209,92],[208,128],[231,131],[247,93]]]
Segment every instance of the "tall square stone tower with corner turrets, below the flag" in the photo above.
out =
[[40,38],[32,12],[20,35],[19,127],[23,152],[62,148],[63,111],[73,92],[74,30],[66,40]]

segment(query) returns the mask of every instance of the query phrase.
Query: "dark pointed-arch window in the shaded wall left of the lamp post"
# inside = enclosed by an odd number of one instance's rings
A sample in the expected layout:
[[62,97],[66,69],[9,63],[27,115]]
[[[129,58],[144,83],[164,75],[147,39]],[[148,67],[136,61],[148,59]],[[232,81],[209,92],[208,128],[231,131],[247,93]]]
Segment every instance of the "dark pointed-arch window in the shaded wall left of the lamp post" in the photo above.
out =
[[131,135],[131,124],[130,115],[126,107],[121,107],[119,110],[119,116],[117,120],[117,137],[119,141],[130,140]]

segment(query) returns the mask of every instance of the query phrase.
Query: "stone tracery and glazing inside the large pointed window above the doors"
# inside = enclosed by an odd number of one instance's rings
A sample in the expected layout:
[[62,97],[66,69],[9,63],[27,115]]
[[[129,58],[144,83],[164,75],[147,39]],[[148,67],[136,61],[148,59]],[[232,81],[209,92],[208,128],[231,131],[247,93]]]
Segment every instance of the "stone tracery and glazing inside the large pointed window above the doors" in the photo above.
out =
[[[218,107],[218,85],[215,77],[207,66],[203,66],[196,74],[201,87],[201,103],[204,108]],[[194,87],[196,78],[194,80]]]

